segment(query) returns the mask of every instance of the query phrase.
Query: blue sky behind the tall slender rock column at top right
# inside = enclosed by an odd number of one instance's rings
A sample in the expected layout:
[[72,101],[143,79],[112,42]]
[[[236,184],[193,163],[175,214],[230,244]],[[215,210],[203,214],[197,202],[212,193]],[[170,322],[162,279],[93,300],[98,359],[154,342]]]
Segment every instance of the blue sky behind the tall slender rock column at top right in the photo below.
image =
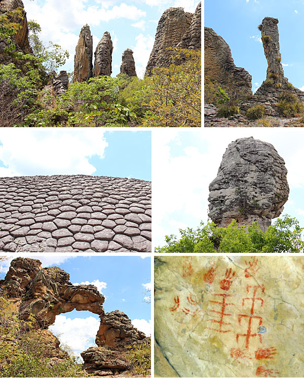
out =
[[303,1],[205,0],[205,26],[211,27],[230,46],[235,64],[252,75],[253,89],[266,78],[267,60],[257,28],[264,17],[279,20],[285,77],[295,87],[304,90]]

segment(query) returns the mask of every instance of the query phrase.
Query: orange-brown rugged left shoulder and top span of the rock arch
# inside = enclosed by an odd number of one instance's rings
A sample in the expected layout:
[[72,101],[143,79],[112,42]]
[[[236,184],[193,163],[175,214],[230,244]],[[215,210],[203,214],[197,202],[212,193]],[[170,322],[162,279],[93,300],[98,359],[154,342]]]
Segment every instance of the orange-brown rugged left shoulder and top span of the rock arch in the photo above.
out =
[[17,257],[2,281],[11,297],[22,297],[19,312],[23,319],[32,313],[45,329],[55,322],[56,315],[73,309],[104,315],[104,296],[94,285],[73,286],[69,274],[60,268],[40,268],[39,260]]

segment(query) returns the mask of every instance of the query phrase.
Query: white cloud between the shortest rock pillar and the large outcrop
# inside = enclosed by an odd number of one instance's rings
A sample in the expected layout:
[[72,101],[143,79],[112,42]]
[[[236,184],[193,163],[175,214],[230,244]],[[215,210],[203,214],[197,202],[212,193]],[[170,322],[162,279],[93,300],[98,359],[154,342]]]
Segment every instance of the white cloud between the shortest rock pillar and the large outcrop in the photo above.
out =
[[135,41],[136,45],[132,46],[131,49],[133,50],[136,73],[139,78],[143,78],[154,45],[154,37],[140,33],[135,37]]

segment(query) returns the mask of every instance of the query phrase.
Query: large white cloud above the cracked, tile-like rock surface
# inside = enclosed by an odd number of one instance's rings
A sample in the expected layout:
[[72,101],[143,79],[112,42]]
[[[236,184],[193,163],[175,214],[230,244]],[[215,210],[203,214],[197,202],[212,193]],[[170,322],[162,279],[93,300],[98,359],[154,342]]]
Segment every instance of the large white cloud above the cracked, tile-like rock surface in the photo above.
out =
[[[5,129],[0,135],[0,176],[92,174],[88,159],[104,156],[108,143],[100,129]],[[18,134],[18,135],[17,135]]]

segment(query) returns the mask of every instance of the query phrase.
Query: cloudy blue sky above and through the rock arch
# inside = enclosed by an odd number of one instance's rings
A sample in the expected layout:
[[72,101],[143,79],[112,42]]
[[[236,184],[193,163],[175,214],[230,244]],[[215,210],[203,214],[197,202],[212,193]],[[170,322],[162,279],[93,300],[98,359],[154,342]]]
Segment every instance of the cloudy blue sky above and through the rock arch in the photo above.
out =
[[[12,258],[17,257],[14,254]],[[22,257],[25,257],[22,254]],[[33,255],[43,267],[58,266],[70,274],[72,284],[93,284],[105,296],[105,312],[120,310],[128,315],[132,324],[150,334],[151,305],[145,303],[150,288],[151,259],[139,256],[66,256]],[[1,262],[0,276],[8,271],[10,261]],[[56,316],[50,330],[59,334],[61,343],[67,344],[75,354],[94,346],[99,328],[98,315],[73,310]]]

